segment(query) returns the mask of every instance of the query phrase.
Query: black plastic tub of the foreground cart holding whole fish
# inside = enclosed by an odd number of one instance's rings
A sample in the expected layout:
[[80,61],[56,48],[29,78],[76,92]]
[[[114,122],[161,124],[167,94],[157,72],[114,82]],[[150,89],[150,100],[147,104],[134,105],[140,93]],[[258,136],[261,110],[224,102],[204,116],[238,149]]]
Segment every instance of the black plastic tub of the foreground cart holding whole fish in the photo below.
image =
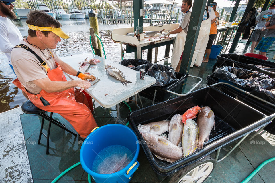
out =
[[[215,100],[214,100],[215,99]],[[183,114],[187,109],[199,105],[209,106],[215,113],[215,130],[211,132],[209,141],[203,149],[192,153],[173,163],[159,160],[149,150],[146,142],[137,129],[139,124],[171,119],[173,115]],[[231,113],[228,113],[231,111]],[[261,112],[232,98],[214,87],[204,87],[191,92],[187,96],[132,111],[128,120],[137,134],[140,144],[152,166],[156,176],[163,180],[174,175],[183,167],[194,164],[216,149],[232,143],[247,133],[268,124],[272,117],[266,117]]]

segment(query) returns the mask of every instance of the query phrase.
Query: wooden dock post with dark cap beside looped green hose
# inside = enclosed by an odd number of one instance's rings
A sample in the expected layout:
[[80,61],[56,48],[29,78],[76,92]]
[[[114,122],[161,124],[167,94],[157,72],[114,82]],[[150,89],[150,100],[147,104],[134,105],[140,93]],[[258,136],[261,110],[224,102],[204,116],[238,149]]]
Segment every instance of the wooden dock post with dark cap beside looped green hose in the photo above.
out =
[[[92,9],[88,15],[89,15],[90,27],[94,29],[95,34],[99,35],[97,13],[95,13],[95,11]],[[102,57],[101,43],[99,39],[97,39],[97,45],[98,45],[98,49],[95,49],[95,54]]]

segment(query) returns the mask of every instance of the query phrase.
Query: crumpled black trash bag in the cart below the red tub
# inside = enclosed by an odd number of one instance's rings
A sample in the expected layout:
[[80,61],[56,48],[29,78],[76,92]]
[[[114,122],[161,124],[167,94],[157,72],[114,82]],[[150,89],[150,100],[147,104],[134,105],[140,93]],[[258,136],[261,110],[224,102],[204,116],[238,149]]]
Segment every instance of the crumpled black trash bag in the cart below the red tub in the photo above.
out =
[[254,89],[261,86],[262,80],[269,79],[269,76],[263,73],[230,66],[219,68],[216,72],[212,73],[211,76],[225,81],[231,81],[247,89]]

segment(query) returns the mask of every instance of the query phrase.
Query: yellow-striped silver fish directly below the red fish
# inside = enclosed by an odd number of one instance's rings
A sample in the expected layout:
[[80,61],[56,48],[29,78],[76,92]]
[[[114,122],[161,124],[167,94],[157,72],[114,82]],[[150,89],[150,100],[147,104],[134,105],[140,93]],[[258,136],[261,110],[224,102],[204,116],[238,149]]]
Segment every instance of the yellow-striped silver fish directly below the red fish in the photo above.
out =
[[186,124],[184,123],[182,133],[182,150],[184,157],[196,151],[198,137],[199,127],[197,123],[192,119],[186,120]]

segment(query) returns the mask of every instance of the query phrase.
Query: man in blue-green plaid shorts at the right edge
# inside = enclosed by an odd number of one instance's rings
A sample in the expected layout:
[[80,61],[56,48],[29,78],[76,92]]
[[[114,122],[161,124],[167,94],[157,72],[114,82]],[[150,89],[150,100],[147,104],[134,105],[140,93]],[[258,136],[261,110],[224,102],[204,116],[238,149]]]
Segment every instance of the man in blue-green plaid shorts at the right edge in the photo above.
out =
[[271,17],[270,21],[266,23],[266,27],[262,28],[262,31],[266,30],[266,34],[259,42],[256,50],[259,50],[260,55],[266,56],[266,52],[270,45],[275,41],[275,14]]

